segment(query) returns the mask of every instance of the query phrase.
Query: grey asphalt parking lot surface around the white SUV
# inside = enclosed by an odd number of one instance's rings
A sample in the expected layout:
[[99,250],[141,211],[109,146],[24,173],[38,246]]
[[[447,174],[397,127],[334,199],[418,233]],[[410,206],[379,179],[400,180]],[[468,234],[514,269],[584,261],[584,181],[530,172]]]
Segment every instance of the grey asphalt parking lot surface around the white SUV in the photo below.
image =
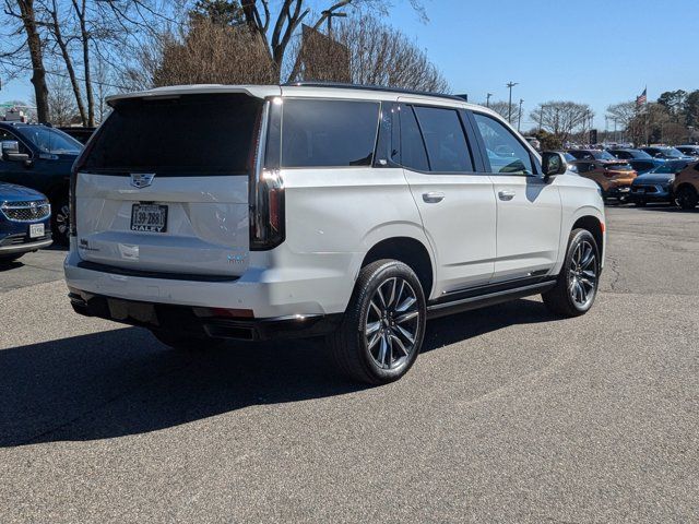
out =
[[321,344],[166,349],[0,272],[0,521],[699,520],[699,212],[607,210],[603,293],[434,321],[398,383]]

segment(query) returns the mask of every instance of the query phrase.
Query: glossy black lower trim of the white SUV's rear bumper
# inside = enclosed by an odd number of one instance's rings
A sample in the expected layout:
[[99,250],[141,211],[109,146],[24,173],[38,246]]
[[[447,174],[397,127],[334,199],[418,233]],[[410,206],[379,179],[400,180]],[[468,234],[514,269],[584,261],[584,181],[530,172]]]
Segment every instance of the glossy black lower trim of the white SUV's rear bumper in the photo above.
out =
[[72,288],[69,298],[73,310],[85,317],[98,317],[152,330],[236,341],[327,335],[342,321],[342,313],[268,319],[214,317],[206,311],[208,308],[125,300]]

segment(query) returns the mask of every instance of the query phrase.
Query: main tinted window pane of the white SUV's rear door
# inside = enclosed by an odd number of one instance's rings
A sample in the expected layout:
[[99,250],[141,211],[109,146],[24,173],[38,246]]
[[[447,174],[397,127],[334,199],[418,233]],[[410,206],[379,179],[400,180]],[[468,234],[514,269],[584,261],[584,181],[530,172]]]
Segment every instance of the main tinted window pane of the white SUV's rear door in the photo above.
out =
[[433,171],[473,171],[471,153],[454,109],[415,107]]

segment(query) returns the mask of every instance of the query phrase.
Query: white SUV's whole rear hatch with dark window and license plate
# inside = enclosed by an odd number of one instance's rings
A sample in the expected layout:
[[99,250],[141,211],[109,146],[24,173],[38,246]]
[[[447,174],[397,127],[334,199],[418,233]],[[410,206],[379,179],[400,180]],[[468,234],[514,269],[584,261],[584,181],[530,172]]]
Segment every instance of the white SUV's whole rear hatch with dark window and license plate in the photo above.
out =
[[80,257],[149,274],[241,275],[263,100],[209,93],[112,105],[75,167]]

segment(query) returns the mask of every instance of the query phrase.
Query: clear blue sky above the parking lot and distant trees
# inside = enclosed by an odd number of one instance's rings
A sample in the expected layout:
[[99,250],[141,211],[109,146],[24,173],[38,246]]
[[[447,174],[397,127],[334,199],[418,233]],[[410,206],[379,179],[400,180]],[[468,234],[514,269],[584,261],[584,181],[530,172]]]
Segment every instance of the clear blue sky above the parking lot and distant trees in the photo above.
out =
[[[394,0],[391,24],[426,50],[454,93],[472,102],[571,99],[594,109],[604,128],[609,104],[648,85],[662,92],[699,88],[699,0],[423,0],[423,23],[407,0]],[[27,80],[3,85],[0,102],[29,99]]]

